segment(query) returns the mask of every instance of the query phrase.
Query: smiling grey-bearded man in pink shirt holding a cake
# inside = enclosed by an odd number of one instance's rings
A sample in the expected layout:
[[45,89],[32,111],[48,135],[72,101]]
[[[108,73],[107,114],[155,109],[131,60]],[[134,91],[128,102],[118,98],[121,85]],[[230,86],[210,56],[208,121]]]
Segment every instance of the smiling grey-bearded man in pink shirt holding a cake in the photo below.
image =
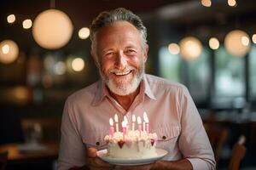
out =
[[201,117],[189,91],[177,82],[144,73],[148,57],[142,20],[125,8],[102,12],[92,22],[91,55],[101,79],[71,95],[61,124],[59,169],[117,168],[96,156],[114,114],[148,113],[163,160],[131,169],[214,169],[215,161]]

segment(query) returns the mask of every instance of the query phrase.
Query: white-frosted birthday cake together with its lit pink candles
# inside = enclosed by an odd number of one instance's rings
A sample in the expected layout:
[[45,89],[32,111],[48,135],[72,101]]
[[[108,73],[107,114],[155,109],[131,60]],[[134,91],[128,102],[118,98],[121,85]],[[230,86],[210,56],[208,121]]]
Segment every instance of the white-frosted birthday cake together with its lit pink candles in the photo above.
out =
[[157,141],[156,133],[149,133],[148,116],[144,113],[143,127],[141,118],[137,117],[137,127],[135,130],[136,117],[132,116],[132,128],[129,129],[127,118],[122,122],[122,132],[119,132],[118,117],[115,115],[116,132],[113,128],[113,119],[109,120],[109,134],[104,140],[108,144],[107,154],[113,158],[148,158],[157,156],[155,145]]

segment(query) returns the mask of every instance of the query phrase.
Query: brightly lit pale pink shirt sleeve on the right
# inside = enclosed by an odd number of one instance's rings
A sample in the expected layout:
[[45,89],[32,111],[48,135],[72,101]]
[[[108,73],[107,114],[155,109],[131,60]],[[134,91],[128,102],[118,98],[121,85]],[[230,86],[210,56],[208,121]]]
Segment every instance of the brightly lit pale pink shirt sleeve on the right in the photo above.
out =
[[183,157],[191,162],[193,169],[215,169],[216,162],[212,146],[203,127],[201,116],[187,88],[183,87],[179,98],[181,135],[178,139],[178,145]]

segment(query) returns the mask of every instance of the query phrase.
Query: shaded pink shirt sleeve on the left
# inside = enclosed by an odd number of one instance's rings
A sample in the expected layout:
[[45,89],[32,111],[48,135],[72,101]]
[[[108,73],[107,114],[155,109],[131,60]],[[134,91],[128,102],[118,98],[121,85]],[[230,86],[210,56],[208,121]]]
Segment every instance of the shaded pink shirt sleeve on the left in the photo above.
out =
[[70,167],[82,167],[85,164],[85,146],[74,122],[73,105],[67,99],[61,120],[58,170],[67,170]]

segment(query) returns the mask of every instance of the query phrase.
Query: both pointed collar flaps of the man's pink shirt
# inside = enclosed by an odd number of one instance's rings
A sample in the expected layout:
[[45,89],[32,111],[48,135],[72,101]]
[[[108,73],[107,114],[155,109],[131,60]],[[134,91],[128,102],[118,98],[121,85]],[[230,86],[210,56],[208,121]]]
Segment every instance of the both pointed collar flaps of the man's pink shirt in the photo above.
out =
[[[145,75],[143,76],[143,81],[141,82],[140,91],[141,91],[140,94],[146,94],[150,99],[156,99],[149,84],[148,84],[148,80]],[[138,94],[138,95],[140,95],[140,94]],[[106,87],[105,83],[101,79],[97,83],[96,93],[95,93],[95,97],[92,101],[92,105],[94,105],[94,106],[99,105],[102,102],[102,100],[107,96],[110,97],[108,88]]]

